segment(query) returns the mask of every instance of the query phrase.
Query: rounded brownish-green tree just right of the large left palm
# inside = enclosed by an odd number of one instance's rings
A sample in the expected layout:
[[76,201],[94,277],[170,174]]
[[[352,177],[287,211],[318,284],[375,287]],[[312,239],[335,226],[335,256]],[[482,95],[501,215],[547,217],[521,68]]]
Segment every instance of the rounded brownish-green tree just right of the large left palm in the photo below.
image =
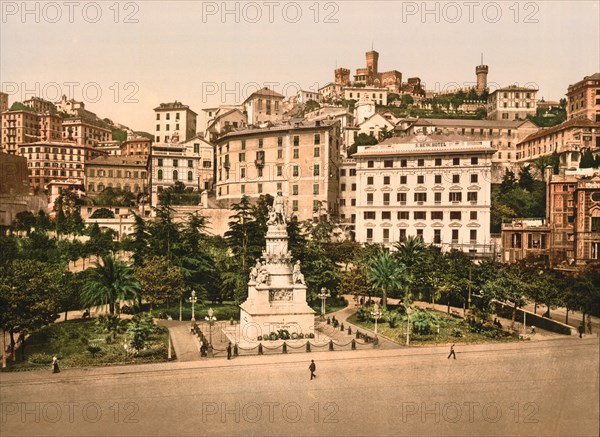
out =
[[141,295],[150,305],[170,303],[183,293],[181,271],[164,256],[148,258],[143,266],[135,269],[135,276],[140,284]]

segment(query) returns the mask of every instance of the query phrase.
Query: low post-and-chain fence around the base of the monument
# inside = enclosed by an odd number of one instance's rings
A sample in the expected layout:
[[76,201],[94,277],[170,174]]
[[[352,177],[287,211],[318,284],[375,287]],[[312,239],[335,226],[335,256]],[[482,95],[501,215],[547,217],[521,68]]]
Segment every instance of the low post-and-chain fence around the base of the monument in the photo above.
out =
[[[342,326],[343,331],[345,329]],[[200,341],[200,356],[201,357],[215,357],[215,356],[226,356],[229,352],[226,349],[217,349],[209,344],[206,336],[202,332],[199,325],[195,324],[192,328],[193,333],[198,337]],[[240,355],[274,355],[274,354],[287,354],[292,352],[313,352],[314,351],[336,351],[336,350],[357,350],[373,348],[379,344],[377,337],[373,337],[369,334],[356,331],[352,332],[352,328],[349,326],[347,333],[354,335],[351,341],[347,343],[337,343],[333,340],[329,340],[326,343],[315,343],[310,340],[298,344],[299,340],[292,340],[296,344],[290,344],[286,340],[283,343],[276,346],[270,346],[269,342],[258,342],[256,346],[245,348],[239,346],[237,343],[231,346],[231,355],[236,357]]]

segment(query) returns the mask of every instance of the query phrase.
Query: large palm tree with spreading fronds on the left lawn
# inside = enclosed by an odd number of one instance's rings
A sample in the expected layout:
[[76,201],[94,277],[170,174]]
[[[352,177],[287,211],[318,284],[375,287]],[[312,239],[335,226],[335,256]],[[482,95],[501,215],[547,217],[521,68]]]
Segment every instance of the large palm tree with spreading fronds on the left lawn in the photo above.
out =
[[123,261],[112,255],[102,257],[102,263],[86,270],[86,282],[81,293],[84,306],[100,306],[108,304],[111,314],[117,310],[120,300],[136,299],[140,292],[140,284],[133,270]]

